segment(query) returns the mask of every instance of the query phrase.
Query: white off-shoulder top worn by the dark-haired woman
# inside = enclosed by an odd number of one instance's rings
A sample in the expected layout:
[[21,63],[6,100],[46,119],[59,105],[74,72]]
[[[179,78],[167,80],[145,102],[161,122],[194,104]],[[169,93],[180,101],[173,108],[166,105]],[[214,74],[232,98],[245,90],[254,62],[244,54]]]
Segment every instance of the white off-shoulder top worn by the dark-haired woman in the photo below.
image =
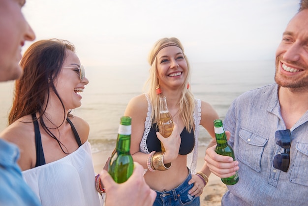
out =
[[42,206],[102,205],[95,189],[89,141],[60,160],[22,173]]

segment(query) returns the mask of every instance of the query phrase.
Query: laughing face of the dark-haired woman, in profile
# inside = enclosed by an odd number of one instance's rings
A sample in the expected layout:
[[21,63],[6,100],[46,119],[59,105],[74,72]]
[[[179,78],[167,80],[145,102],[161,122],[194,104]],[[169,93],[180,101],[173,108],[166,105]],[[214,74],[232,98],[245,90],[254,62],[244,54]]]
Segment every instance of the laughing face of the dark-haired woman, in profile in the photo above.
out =
[[[56,89],[62,99],[65,109],[74,109],[81,105],[81,95],[85,85],[89,83],[87,77],[82,80],[79,77],[80,61],[77,55],[69,49],[66,49],[66,58],[64,60],[57,82]],[[76,69],[73,69],[76,68]]]

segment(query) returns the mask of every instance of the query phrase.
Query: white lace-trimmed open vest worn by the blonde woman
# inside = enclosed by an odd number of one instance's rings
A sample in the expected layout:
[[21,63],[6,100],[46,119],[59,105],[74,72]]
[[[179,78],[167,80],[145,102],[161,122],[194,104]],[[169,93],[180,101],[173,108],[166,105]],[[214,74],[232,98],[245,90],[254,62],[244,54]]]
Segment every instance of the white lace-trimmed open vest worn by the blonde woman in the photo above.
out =
[[[152,106],[150,103],[150,99],[146,94],[146,98],[148,101],[148,113],[146,121],[144,122],[144,133],[143,137],[140,142],[140,151],[146,154],[150,154],[148,147],[147,147],[147,137],[150,133],[151,126],[152,126]],[[195,109],[193,112],[193,123],[194,123],[194,136],[195,136],[195,146],[193,150],[187,155],[187,167],[190,169],[192,174],[196,173],[197,167],[197,158],[198,158],[198,137],[199,137],[199,125],[201,120],[201,100],[195,99]]]

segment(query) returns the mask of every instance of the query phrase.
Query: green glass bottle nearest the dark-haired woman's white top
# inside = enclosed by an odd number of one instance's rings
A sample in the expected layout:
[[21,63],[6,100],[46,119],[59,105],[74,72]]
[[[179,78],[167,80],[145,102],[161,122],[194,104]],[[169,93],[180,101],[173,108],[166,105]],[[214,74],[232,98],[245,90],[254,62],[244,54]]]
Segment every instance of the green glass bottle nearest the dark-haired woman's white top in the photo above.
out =
[[125,182],[133,172],[130,150],[131,118],[123,116],[118,131],[116,152],[111,156],[108,172],[117,183]]

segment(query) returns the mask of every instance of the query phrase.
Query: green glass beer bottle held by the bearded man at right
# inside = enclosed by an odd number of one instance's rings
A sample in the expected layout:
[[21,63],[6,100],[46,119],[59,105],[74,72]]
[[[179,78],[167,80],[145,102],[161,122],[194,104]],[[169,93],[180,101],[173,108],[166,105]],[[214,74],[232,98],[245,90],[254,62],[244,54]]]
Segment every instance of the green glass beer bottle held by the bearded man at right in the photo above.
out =
[[[232,157],[233,160],[235,160],[234,151],[232,147],[228,145],[227,136],[224,132],[222,121],[220,119],[214,120],[214,129],[217,142],[215,149],[216,153]],[[234,185],[239,181],[239,173],[236,171],[233,176],[221,178],[221,181],[226,185]]]

